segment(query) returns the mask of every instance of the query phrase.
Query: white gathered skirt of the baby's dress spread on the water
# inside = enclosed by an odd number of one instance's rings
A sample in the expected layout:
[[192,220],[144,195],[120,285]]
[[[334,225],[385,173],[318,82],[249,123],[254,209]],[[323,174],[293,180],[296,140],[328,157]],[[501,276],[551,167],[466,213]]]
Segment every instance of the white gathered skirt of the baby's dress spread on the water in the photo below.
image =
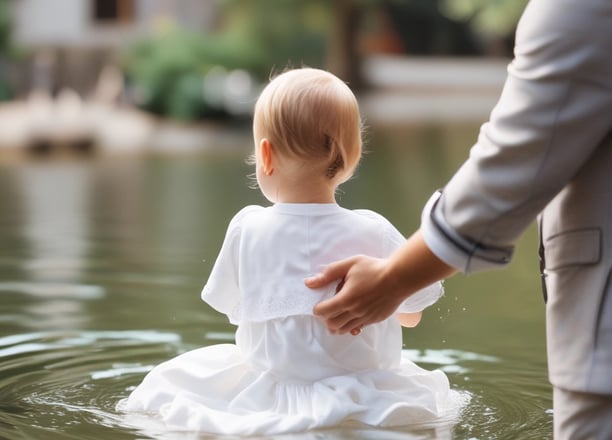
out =
[[351,422],[443,425],[458,402],[443,372],[401,359],[394,318],[354,337],[300,315],[247,322],[236,345],[158,365],[119,409],[155,413],[169,430],[275,435]]

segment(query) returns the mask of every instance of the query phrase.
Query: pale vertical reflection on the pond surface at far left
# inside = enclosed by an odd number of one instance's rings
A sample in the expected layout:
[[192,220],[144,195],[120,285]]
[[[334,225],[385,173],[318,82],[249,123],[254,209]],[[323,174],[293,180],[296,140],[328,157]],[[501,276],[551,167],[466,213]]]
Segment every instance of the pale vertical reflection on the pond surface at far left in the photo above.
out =
[[23,274],[0,281],[9,309],[17,309],[4,321],[38,329],[79,326],[89,320],[86,302],[105,295],[103,287],[80,281],[89,247],[90,173],[82,164],[59,162],[20,167],[14,176],[25,254]]

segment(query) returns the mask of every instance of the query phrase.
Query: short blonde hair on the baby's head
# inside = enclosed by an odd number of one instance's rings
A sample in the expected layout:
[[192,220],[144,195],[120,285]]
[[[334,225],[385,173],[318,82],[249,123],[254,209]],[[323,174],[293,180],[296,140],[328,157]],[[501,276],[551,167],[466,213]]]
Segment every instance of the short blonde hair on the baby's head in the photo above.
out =
[[349,179],[361,158],[357,99],[335,75],[320,69],[288,70],[264,88],[253,133],[268,138],[279,154],[319,159],[330,179]]

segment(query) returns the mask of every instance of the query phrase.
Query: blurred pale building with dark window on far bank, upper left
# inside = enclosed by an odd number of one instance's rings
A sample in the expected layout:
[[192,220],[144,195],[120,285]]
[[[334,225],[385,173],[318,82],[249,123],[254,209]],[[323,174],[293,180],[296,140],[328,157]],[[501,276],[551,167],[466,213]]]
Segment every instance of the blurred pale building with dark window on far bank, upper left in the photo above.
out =
[[206,30],[216,18],[207,0],[11,0],[13,38],[26,62],[13,73],[17,94],[66,87],[84,95],[121,50],[164,26]]

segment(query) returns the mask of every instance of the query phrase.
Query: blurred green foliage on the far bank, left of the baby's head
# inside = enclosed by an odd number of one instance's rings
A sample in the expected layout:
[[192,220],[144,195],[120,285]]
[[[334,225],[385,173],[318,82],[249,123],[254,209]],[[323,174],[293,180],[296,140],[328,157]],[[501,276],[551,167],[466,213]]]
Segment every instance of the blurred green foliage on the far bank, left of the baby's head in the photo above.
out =
[[330,8],[323,0],[221,1],[214,34],[169,28],[130,48],[125,71],[137,103],[182,120],[223,116],[203,93],[206,74],[221,66],[265,81],[287,65],[322,66]]

